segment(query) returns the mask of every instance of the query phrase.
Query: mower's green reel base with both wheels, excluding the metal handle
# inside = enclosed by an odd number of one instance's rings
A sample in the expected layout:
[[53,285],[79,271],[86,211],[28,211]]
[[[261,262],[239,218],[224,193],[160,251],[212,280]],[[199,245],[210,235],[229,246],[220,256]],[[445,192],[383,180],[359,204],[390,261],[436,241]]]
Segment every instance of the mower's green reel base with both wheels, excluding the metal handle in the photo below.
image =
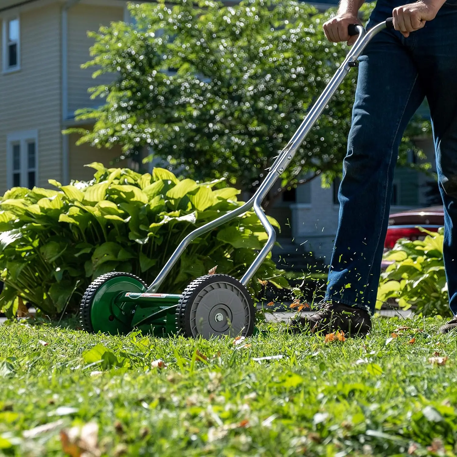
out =
[[130,273],[98,277],[81,301],[83,329],[111,335],[139,329],[154,336],[181,333],[206,338],[253,334],[252,298],[230,276],[203,276],[191,282],[182,294],[146,290],[146,284]]

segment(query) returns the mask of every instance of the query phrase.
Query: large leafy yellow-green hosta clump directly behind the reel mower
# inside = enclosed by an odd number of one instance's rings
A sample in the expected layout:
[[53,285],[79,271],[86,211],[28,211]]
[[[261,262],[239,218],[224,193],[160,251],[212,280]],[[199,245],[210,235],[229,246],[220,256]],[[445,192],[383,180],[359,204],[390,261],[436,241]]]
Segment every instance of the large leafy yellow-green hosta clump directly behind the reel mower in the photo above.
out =
[[[241,204],[237,189],[214,188],[220,181],[179,181],[162,168],[140,175],[90,166],[96,173],[88,183],[50,180],[58,190],[15,187],[0,200],[0,307],[10,314],[18,296],[51,317],[67,302],[74,311],[89,283],[108,271],[151,283],[188,233]],[[265,240],[259,219],[245,213],[193,241],[161,290],[179,293],[216,265],[239,277]],[[258,271],[287,284],[278,274],[270,257]],[[251,291],[259,288],[255,277]]]

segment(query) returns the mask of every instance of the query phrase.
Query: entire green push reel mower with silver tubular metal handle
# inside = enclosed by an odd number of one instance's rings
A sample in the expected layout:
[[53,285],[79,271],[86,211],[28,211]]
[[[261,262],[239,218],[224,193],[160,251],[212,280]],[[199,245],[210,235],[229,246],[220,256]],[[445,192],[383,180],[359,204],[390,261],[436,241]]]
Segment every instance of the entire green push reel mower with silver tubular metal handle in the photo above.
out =
[[[187,337],[201,335],[204,338],[252,335],[255,331],[255,311],[246,284],[271,251],[276,239],[275,230],[260,205],[278,176],[289,165],[346,74],[351,67],[357,66],[357,58],[363,49],[372,37],[386,27],[393,28],[392,18],[377,24],[368,32],[359,25],[349,27],[350,35],[359,35],[356,43],[248,202],[187,235],[149,287],[137,276],[121,272],[106,273],[92,282],[80,304],[83,329],[114,335],[128,333],[134,328],[158,336],[176,333]],[[191,241],[251,208],[254,208],[264,226],[268,239],[240,281],[231,276],[214,274],[192,281],[181,294],[157,292]]]

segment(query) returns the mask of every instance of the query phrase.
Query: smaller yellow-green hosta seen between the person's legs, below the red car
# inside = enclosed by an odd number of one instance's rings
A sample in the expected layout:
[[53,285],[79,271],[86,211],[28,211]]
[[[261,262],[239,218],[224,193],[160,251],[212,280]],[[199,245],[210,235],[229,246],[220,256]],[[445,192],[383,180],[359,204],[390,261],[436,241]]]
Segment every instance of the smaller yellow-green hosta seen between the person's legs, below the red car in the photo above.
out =
[[443,228],[438,233],[424,228],[425,239],[400,239],[385,260],[392,260],[381,274],[377,306],[395,298],[400,308],[415,306],[424,315],[449,316],[447,283],[443,263]]

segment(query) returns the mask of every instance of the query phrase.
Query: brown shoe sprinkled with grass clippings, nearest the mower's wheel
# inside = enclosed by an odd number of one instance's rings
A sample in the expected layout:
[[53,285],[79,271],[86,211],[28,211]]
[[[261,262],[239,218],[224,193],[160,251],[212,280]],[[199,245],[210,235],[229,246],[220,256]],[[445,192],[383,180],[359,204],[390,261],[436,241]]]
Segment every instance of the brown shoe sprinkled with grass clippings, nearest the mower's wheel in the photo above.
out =
[[324,335],[340,330],[346,336],[365,336],[371,330],[371,318],[364,309],[329,302],[324,303],[311,316],[292,319],[289,329],[293,333],[309,329],[312,333],[323,333]]

